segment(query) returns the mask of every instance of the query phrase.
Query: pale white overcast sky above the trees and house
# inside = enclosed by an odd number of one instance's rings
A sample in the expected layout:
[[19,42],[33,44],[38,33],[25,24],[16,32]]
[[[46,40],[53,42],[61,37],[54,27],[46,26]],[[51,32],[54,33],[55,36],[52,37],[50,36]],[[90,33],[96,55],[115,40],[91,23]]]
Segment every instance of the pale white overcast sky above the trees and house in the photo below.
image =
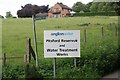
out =
[[93,0],[0,0],[0,15],[5,16],[6,12],[11,11],[13,16],[17,16],[17,10],[20,10],[21,6],[28,3],[33,5],[36,4],[38,6],[49,5],[49,7],[51,7],[57,2],[62,2],[63,4],[72,7],[76,2],[87,4],[92,1]]

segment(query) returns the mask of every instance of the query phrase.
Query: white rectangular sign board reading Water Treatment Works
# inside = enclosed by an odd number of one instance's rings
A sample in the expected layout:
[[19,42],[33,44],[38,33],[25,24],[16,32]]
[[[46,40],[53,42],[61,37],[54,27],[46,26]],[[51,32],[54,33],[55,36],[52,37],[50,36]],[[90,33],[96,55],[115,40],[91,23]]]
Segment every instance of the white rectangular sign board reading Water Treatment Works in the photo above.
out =
[[45,30],[44,57],[80,57],[80,30]]

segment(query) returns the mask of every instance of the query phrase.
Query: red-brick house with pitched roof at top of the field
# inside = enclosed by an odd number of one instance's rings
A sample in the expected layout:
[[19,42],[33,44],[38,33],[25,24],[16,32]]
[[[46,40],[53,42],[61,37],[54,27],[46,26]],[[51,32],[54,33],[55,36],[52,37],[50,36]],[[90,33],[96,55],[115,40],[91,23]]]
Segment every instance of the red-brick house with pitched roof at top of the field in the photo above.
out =
[[66,17],[70,16],[72,9],[69,8],[68,6],[62,4],[62,3],[57,3],[54,6],[52,6],[48,12],[48,17],[49,18],[58,18],[58,17]]

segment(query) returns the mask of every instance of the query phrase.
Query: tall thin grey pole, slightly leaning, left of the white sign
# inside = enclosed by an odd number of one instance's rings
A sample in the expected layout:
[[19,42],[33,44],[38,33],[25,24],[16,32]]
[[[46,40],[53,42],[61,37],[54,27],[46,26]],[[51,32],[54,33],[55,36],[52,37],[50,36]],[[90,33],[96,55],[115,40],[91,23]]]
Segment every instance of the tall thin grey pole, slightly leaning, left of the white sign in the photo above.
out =
[[33,22],[33,34],[34,34],[34,47],[35,47],[35,56],[36,56],[36,67],[38,67],[37,40],[36,40],[36,29],[35,29],[34,15],[32,15],[32,22]]

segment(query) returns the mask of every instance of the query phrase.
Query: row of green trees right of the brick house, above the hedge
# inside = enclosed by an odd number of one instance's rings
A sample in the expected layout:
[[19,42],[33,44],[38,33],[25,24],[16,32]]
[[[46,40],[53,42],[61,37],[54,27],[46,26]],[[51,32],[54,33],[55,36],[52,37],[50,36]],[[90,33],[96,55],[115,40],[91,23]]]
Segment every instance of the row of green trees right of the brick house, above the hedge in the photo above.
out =
[[118,2],[89,2],[83,4],[82,2],[76,2],[72,9],[73,11],[79,12],[115,12],[118,11]]

